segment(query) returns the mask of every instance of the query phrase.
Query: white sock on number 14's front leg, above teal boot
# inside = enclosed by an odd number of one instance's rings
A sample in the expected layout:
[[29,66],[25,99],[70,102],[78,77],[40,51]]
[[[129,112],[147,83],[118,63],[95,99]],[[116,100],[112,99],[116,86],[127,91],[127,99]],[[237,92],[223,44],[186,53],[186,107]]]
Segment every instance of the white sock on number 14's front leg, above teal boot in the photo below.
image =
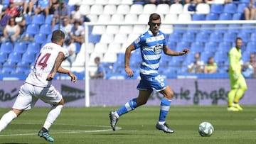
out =
[[53,122],[60,115],[60,111],[61,111],[62,108],[63,108],[63,105],[52,106],[50,108],[50,111],[48,112],[48,116],[46,118],[46,121],[43,124],[43,128],[46,128],[46,130],[49,130],[50,126],[53,124]]

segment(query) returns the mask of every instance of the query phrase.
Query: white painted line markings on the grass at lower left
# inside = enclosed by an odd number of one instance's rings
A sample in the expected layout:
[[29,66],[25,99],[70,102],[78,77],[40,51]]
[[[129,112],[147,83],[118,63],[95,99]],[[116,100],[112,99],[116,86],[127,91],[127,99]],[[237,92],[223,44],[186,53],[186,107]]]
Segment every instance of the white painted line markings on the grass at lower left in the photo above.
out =
[[[38,123],[16,123],[16,124],[38,124]],[[63,134],[63,133],[99,133],[99,132],[105,132],[105,131],[113,131],[112,128],[109,129],[110,126],[95,126],[95,125],[70,125],[70,124],[55,124],[60,125],[60,126],[90,126],[90,127],[97,127],[97,128],[107,128],[103,130],[68,130],[68,129],[63,129],[62,132],[51,132],[51,134]],[[121,130],[121,127],[116,127],[116,130]],[[64,132],[65,131],[65,132]],[[22,134],[9,134],[9,135],[0,135],[0,137],[7,137],[7,136],[23,136],[23,135],[37,135],[37,133],[22,133]]]

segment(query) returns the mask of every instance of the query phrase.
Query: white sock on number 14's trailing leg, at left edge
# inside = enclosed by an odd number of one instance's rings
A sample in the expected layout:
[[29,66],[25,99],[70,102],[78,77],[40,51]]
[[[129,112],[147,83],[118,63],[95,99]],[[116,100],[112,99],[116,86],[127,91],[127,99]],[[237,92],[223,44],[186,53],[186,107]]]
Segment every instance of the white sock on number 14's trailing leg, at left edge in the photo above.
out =
[[8,126],[9,123],[11,123],[11,121],[13,121],[16,117],[17,115],[16,113],[14,113],[14,111],[9,111],[5,113],[0,120],[0,132],[3,131],[4,128],[6,128],[6,126]]

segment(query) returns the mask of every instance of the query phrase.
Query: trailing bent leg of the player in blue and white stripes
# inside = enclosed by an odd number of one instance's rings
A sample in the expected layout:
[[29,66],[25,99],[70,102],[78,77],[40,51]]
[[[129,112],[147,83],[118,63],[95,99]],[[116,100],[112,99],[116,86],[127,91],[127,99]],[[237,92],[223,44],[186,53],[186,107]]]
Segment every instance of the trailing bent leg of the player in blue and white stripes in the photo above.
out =
[[110,126],[115,131],[118,118],[129,111],[136,109],[138,106],[146,104],[151,92],[147,90],[139,90],[139,96],[136,99],[128,101],[124,106],[121,106],[117,111],[110,111]]

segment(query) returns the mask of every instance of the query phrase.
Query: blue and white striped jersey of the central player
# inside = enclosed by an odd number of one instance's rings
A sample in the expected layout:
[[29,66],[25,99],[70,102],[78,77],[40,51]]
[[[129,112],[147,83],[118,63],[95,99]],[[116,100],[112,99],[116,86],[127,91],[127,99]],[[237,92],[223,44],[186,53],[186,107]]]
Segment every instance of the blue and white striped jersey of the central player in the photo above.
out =
[[142,53],[142,63],[139,72],[141,74],[155,75],[159,70],[159,61],[161,59],[161,53],[163,47],[166,46],[166,35],[159,31],[154,36],[153,33],[148,30],[134,40],[133,44],[135,48],[140,48]]

